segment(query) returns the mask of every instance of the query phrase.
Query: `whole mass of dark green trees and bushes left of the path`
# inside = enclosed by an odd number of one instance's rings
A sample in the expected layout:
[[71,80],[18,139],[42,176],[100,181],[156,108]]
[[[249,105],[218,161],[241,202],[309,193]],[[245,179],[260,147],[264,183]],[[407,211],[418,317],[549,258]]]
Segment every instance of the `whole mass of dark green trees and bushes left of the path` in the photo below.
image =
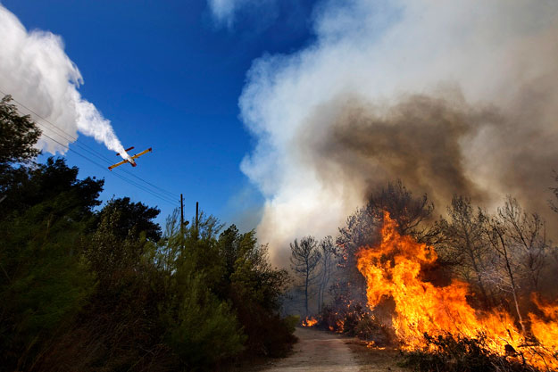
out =
[[254,231],[102,204],[104,180],[35,162],[40,130],[0,103],[0,370],[226,370],[284,355],[288,277]]

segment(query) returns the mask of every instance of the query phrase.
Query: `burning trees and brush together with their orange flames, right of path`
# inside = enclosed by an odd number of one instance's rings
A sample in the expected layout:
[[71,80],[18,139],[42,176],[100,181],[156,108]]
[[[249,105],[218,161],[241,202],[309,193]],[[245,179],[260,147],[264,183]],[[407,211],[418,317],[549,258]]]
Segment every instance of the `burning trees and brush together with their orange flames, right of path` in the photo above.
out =
[[[552,203],[546,206],[552,207]],[[401,181],[372,191],[368,203],[339,228],[339,261],[328,301],[313,314],[317,327],[357,335],[380,347],[403,343],[413,348],[416,340],[412,332],[405,332],[421,328],[417,326],[421,322],[433,322],[434,328],[419,334],[424,335],[426,349],[413,349],[416,352],[410,357],[422,359],[426,364],[420,368],[424,370],[434,363],[427,360],[455,348],[462,358],[481,360],[483,354],[498,363],[512,363],[518,370],[537,370],[533,366],[554,370],[548,367],[556,363],[555,339],[549,335],[554,335],[558,320],[554,314],[558,247],[547,238],[545,220],[510,195],[502,199],[496,212],[458,194],[445,216],[435,219],[433,211],[426,194],[413,196]],[[401,226],[386,217],[391,214]],[[421,298],[430,305],[410,303]],[[429,308],[432,303],[436,305]],[[452,313],[453,306],[464,312]],[[409,310],[405,312],[403,307]],[[417,311],[425,312],[417,315]],[[544,317],[537,315],[543,313]],[[409,314],[411,318],[406,318]],[[444,316],[440,314],[448,314],[449,328],[442,325]],[[464,321],[471,317],[476,320]],[[430,332],[436,332],[436,327],[445,336],[432,338]],[[478,338],[475,332],[479,332]],[[486,342],[487,335],[498,332],[507,343],[506,356],[490,344],[495,342],[492,338]],[[439,342],[434,350],[428,349],[432,340]],[[519,357],[508,360],[507,356],[521,356],[523,367]],[[438,367],[454,362],[437,360]]]

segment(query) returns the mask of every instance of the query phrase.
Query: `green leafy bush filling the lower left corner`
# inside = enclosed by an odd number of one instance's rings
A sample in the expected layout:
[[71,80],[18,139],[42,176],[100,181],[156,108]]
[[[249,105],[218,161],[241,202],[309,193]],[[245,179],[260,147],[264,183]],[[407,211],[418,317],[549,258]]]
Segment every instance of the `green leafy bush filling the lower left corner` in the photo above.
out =
[[76,249],[83,225],[57,216],[67,204],[63,199],[0,222],[4,366],[22,367],[32,360],[50,333],[77,315],[95,287]]

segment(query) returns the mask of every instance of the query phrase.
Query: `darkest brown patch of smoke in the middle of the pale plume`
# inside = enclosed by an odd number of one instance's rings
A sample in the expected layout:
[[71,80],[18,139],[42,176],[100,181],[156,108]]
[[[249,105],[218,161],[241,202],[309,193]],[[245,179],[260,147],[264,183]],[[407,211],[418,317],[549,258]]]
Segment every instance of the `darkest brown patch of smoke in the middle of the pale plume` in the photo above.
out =
[[321,177],[353,180],[364,193],[399,178],[437,205],[446,205],[453,194],[486,202],[486,191],[467,174],[462,143],[480,128],[501,124],[495,110],[412,95],[385,111],[353,99],[333,118],[318,114],[308,133],[319,131],[322,120],[333,119],[319,141],[316,136],[305,139],[313,142],[309,155]]

